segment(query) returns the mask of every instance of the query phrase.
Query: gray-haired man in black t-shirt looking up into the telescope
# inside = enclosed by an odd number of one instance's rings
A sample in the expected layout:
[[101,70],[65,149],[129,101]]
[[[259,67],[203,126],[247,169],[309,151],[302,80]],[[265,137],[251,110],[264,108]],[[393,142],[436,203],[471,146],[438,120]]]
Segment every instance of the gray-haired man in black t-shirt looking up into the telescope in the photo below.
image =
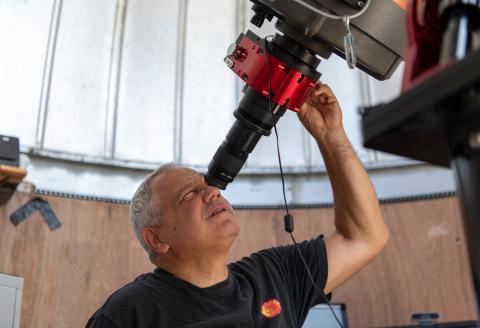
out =
[[[328,294],[381,252],[388,231],[330,88],[317,85],[298,117],[319,145],[335,199],[336,230],[299,244]],[[152,173],[133,197],[131,216],[157,269],[115,292],[89,327],[301,327],[322,302],[293,245],[227,265],[238,219],[193,170]]]

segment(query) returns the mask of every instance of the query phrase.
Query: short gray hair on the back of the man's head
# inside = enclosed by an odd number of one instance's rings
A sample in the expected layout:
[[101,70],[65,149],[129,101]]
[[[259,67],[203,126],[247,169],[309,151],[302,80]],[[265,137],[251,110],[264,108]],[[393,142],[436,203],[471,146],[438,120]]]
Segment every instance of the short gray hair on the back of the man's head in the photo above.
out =
[[140,184],[130,203],[130,218],[132,220],[133,231],[142,247],[147,251],[150,260],[155,258],[155,253],[148,247],[145,240],[143,240],[142,231],[144,228],[153,227],[160,223],[160,204],[155,197],[152,197],[152,180],[165,171],[175,167],[177,167],[175,164],[168,163],[150,173],[145,177],[142,184]]

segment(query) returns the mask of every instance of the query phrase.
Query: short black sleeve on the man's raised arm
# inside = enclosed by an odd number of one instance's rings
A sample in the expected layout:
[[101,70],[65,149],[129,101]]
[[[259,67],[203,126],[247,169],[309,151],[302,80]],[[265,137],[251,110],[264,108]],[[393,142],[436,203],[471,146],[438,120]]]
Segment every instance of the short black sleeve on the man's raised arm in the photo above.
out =
[[271,262],[273,267],[282,275],[298,315],[298,320],[303,322],[313,306],[325,301],[313,286],[298,251],[302,253],[313,280],[322,292],[327,283],[328,263],[323,235],[297,245],[298,250],[295,245],[291,244],[266,249],[260,251],[259,254],[262,254],[266,261]]

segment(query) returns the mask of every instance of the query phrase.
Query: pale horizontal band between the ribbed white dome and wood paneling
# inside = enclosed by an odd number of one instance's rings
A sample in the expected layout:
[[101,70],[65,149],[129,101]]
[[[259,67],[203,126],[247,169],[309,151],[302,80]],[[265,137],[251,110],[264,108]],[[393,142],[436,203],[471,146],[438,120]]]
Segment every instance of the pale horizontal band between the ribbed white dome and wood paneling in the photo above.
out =
[[[36,157],[30,159],[26,168],[29,172],[26,182],[34,183],[38,189],[122,200],[131,199],[149,173]],[[429,165],[373,169],[369,175],[378,197],[382,199],[455,190],[451,170]],[[289,203],[318,204],[333,201],[330,182],[325,173],[287,174],[285,178]],[[279,174],[242,174],[222,194],[233,205],[283,204]]]

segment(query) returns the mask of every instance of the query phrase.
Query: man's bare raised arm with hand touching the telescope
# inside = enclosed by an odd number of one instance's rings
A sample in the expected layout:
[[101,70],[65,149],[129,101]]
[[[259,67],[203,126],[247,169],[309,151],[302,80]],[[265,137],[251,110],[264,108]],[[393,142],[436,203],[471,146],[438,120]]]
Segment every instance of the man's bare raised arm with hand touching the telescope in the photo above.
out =
[[333,190],[336,230],[325,239],[329,293],[382,251],[388,230],[370,178],[345,134],[332,90],[317,85],[298,117],[317,141]]

